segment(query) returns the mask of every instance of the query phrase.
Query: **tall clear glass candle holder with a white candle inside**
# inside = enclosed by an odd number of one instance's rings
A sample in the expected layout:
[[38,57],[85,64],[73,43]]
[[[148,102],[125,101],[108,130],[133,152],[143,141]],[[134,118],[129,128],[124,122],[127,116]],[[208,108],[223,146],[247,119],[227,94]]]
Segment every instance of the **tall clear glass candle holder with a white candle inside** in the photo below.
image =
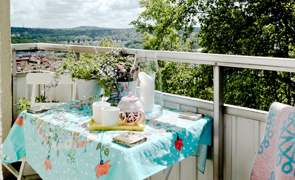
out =
[[160,117],[163,114],[163,87],[157,51],[135,50],[135,61],[129,76],[129,79],[137,81],[136,92],[132,93],[143,104],[146,118]]

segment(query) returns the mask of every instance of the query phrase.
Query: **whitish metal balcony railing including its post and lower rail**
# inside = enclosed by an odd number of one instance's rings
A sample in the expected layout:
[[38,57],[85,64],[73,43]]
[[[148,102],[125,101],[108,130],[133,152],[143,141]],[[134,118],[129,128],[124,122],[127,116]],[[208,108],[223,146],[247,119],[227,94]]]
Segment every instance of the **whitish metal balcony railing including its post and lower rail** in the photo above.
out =
[[[95,49],[94,49],[95,48]],[[49,50],[49,51],[75,51],[76,53],[96,52],[104,54],[112,48],[91,47],[91,46],[75,46],[60,44],[13,44],[12,47],[12,77],[13,87],[16,87],[16,51],[23,50]],[[127,54],[134,56],[134,49],[126,49]],[[241,108],[233,105],[224,104],[223,96],[223,69],[224,67],[251,68],[273,71],[295,72],[295,59],[272,58],[272,57],[255,57],[240,55],[224,55],[224,54],[207,54],[194,52],[176,52],[176,51],[158,51],[157,58],[159,60],[168,60],[176,62],[188,62],[196,64],[213,65],[213,104],[208,102],[188,101],[187,103],[197,103],[196,106],[204,106],[209,110],[213,110],[213,179],[223,179],[223,138],[224,138],[224,113],[265,121],[266,113],[264,111]],[[165,95],[165,94],[164,94]],[[176,96],[179,97],[179,96]],[[16,93],[13,92],[13,102],[16,99]],[[190,98],[191,100],[192,98]],[[175,101],[178,101],[176,98]],[[213,108],[212,108],[213,107]]]

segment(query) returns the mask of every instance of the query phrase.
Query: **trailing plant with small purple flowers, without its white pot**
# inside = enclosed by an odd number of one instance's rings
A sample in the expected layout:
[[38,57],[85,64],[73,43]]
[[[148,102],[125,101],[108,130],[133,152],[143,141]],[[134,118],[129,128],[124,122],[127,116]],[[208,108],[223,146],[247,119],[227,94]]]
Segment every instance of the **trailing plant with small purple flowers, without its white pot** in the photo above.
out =
[[[100,98],[112,105],[117,105],[122,97],[123,90],[127,91],[128,89],[129,72],[133,62],[134,58],[129,57],[124,49],[113,49],[106,55],[97,53],[94,56],[86,56],[81,54],[79,60],[77,60],[74,51],[68,51],[66,57],[54,65],[53,81],[48,87],[56,87],[61,75],[67,75],[73,81],[78,79],[93,80],[104,89],[104,94],[92,94],[91,96],[84,96],[82,99],[79,97],[79,99],[93,101],[93,99]],[[125,86],[118,82],[125,83]],[[85,85],[82,88],[87,91],[90,90]]]

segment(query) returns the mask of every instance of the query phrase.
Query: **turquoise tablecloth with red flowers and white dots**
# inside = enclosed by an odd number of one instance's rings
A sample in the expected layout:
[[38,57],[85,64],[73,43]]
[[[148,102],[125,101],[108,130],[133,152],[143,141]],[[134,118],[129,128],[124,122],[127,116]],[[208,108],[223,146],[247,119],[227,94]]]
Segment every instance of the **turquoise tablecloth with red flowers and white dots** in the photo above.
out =
[[137,131],[147,142],[129,148],[112,142],[126,130],[89,130],[90,108],[79,108],[78,101],[40,114],[23,111],[3,143],[2,160],[27,155],[43,180],[142,180],[196,154],[204,173],[212,120],[185,120],[179,112],[165,108],[160,118],[147,120],[144,131]]

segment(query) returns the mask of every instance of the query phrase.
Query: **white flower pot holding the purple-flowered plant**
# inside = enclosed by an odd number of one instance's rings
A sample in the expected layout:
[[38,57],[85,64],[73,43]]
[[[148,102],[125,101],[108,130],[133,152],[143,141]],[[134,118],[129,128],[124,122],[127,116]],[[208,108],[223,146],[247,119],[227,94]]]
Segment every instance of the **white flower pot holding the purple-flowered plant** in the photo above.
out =
[[84,96],[99,96],[101,94],[102,88],[100,85],[94,81],[94,79],[91,79],[89,81],[86,81],[84,79],[78,79],[77,80],[77,91],[78,91],[78,99],[83,99]]

